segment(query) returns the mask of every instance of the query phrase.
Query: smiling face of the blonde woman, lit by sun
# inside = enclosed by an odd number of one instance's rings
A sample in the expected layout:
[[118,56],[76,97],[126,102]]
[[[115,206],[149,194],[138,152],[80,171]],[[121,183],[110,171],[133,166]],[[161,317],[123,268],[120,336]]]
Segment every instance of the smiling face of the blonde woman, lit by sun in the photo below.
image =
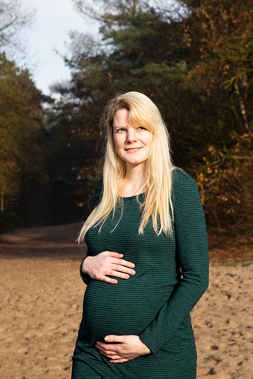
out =
[[113,118],[113,139],[117,153],[128,166],[146,162],[152,144],[153,133],[142,126],[132,126],[127,109],[118,110]]

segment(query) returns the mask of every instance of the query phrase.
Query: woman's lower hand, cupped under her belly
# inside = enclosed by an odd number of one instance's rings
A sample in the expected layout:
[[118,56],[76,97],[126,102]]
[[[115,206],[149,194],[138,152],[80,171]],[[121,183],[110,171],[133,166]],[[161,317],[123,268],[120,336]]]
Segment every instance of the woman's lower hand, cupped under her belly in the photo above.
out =
[[151,353],[151,350],[140,340],[139,336],[110,335],[105,337],[105,341],[108,343],[98,341],[96,348],[101,354],[110,358],[111,363],[126,362]]

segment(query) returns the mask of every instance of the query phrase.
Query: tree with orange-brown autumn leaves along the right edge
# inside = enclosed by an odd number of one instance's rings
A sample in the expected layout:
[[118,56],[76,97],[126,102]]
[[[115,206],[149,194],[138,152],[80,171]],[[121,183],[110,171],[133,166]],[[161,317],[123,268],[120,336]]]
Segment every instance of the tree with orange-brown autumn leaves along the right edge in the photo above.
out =
[[[188,76],[201,78],[206,116],[213,108],[203,160],[196,166],[209,225],[252,228],[253,32],[251,2],[185,1]],[[196,59],[197,57],[197,59]],[[206,106],[208,105],[208,107]],[[208,120],[208,118],[207,118]],[[211,129],[212,128],[212,129]]]

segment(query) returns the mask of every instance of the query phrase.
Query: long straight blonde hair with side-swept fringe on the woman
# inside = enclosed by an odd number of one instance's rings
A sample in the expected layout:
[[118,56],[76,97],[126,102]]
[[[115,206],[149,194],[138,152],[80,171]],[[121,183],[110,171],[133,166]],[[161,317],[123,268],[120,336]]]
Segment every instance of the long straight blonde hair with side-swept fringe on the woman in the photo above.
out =
[[175,166],[171,160],[170,136],[156,105],[143,93],[131,91],[116,94],[104,109],[101,124],[106,130],[107,143],[103,165],[103,194],[101,202],[83,224],[78,242],[83,241],[87,230],[91,227],[100,224],[99,230],[101,230],[112,210],[114,216],[117,204],[120,204],[122,214],[123,198],[118,194],[126,165],[118,156],[113,140],[113,118],[120,109],[129,110],[131,125],[144,126],[153,133],[143,185],[143,188],[147,188],[147,192],[143,194],[144,200],[140,204],[140,209],[143,211],[138,232],[143,234],[151,216],[156,234],[164,232],[167,236],[172,235],[172,170]]

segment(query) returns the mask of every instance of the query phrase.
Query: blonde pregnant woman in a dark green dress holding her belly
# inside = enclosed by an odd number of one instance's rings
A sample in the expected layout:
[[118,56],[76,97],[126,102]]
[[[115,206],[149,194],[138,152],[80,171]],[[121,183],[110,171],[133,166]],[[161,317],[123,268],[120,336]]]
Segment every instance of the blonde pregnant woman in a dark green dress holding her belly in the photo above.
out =
[[173,166],[159,110],[140,92],[115,96],[103,178],[79,241],[87,284],[72,379],[195,379],[189,312],[208,285],[196,182]]

